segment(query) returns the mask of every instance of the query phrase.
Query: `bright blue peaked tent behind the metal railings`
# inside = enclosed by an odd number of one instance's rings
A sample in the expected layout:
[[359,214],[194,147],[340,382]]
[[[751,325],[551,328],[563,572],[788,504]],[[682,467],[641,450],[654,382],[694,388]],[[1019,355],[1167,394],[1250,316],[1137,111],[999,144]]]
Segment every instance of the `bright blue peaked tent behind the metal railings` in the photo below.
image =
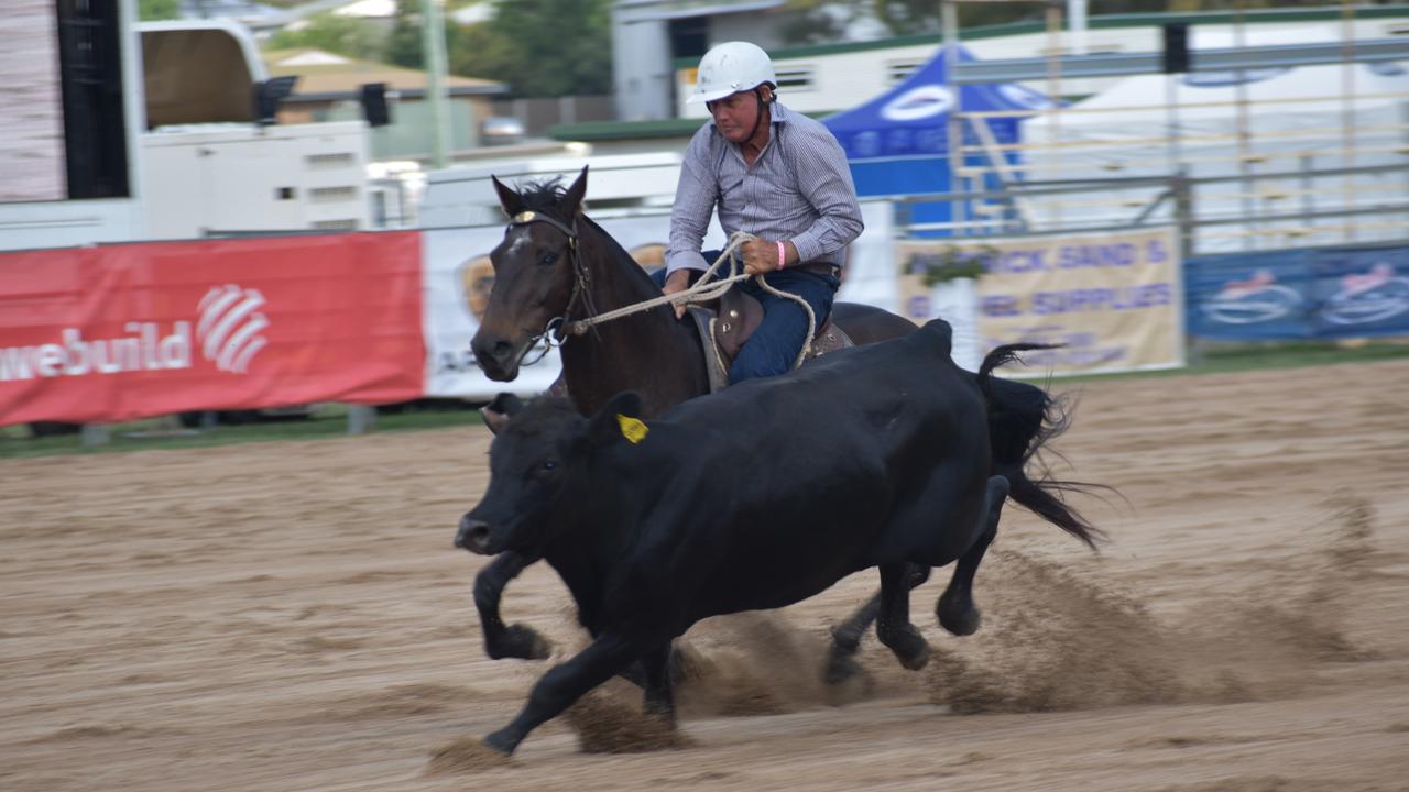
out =
[[[958,61],[974,61],[974,55],[958,48]],[[948,85],[944,70],[944,48],[936,52],[929,63],[919,68],[903,83],[889,92],[837,113],[823,123],[837,135],[847,151],[851,176],[857,182],[857,193],[865,196],[893,196],[943,193],[950,189],[948,165],[948,118],[954,109],[954,87]],[[960,87],[960,110],[1036,110],[1051,101],[1031,89],[1014,83],[983,83]],[[986,118],[982,123],[992,132],[992,142],[999,145],[1019,141],[1020,117],[1006,116]],[[981,142],[974,127],[962,124],[967,147]],[[1016,152],[978,152],[969,149],[967,165],[991,165],[989,156],[1003,156],[1009,163],[1017,162]],[[975,189],[998,189],[1000,183],[992,168],[983,171],[983,185]],[[943,223],[950,220],[950,204],[913,204],[914,223]]]

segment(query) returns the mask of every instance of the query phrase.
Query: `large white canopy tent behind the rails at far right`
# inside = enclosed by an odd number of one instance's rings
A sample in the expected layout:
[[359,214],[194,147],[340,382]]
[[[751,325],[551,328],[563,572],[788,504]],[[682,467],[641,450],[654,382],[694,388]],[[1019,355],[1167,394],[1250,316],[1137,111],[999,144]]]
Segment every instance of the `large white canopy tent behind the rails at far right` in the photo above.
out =
[[[1241,44],[1293,45],[1334,39],[1324,31],[1246,31]],[[1195,31],[1195,55],[1240,44]],[[1195,56],[1195,62],[1198,58]],[[1023,172],[1030,180],[1089,176],[1247,176],[1199,185],[1202,252],[1402,238],[1409,214],[1343,220],[1299,213],[1355,213],[1399,202],[1409,144],[1409,62],[1348,62],[1124,78],[1058,114],[1023,123]],[[1171,138],[1174,142],[1171,142]],[[1354,175],[1317,171],[1357,168]],[[1285,175],[1285,178],[1257,175]],[[1034,204],[1037,223],[1124,223],[1162,186],[1106,189],[1102,200]],[[1158,210],[1167,213],[1167,202]],[[1153,217],[1158,218],[1157,213]],[[1281,218],[1278,218],[1281,217]],[[1247,218],[1244,223],[1227,223]],[[1350,238],[1348,223],[1361,225]]]

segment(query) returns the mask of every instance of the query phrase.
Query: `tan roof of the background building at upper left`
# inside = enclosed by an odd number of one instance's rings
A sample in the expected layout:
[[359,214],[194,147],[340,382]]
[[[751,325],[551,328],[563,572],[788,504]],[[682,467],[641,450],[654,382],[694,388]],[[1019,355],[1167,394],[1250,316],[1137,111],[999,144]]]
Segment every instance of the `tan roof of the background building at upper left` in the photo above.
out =
[[[364,83],[386,83],[389,90],[421,90],[426,72],[403,69],[390,63],[356,61],[323,49],[273,49],[262,54],[271,76],[299,75],[300,94],[355,93]],[[507,93],[509,86],[495,80],[449,75],[445,86],[451,93]]]

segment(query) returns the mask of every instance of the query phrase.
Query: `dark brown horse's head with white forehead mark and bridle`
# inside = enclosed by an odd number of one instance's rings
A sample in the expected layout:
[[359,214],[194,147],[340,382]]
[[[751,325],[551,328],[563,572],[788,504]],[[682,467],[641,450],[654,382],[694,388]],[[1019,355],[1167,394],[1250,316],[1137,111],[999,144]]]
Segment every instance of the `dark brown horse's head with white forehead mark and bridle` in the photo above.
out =
[[571,309],[588,169],[568,189],[554,179],[520,193],[490,179],[510,221],[504,240],[489,254],[495,287],[471,349],[489,379],[509,382],[519,376],[519,361],[528,345]]

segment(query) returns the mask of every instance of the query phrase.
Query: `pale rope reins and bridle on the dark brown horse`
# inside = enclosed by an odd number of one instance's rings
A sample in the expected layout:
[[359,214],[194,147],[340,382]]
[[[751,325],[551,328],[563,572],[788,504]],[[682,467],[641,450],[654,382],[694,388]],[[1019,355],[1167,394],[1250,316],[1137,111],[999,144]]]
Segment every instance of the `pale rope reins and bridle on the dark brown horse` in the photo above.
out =
[[[542,352],[540,352],[538,358],[534,358],[533,362],[538,362],[540,359],[542,359],[542,357],[547,355],[548,351],[552,349],[554,347],[561,347],[566,341],[566,335],[585,335],[589,330],[592,330],[597,324],[621,318],[624,316],[648,311],[659,306],[675,304],[675,303],[688,303],[688,304],[707,303],[710,300],[717,300],[735,282],[750,278],[747,272],[738,271],[740,262],[737,252],[738,247],[743,245],[744,242],[757,240],[757,237],[748,234],[747,231],[734,231],[728,238],[728,245],[724,247],[723,252],[719,254],[719,258],[714,259],[714,264],[704,271],[704,275],[702,275],[700,279],[696,280],[693,286],[689,286],[688,289],[675,292],[672,295],[661,295],[659,297],[651,297],[650,300],[643,300],[640,303],[633,303],[630,306],[613,309],[606,313],[596,313],[596,307],[592,304],[590,292],[588,290],[588,285],[590,283],[590,273],[588,272],[586,265],[582,264],[582,254],[578,249],[576,221],[573,221],[572,225],[566,225],[565,223],[554,217],[550,217],[541,211],[520,211],[519,214],[513,216],[513,218],[510,218],[509,221],[510,227],[528,225],[531,223],[547,223],[548,225],[552,225],[554,228],[562,231],[562,234],[568,237],[568,258],[572,259],[572,273],[573,273],[572,295],[568,297],[568,304],[564,306],[562,309],[562,316],[557,316],[548,320],[548,324],[542,328],[542,333],[538,334],[535,338],[533,338],[533,341],[530,341],[528,345],[524,348],[524,357],[527,357],[528,352],[538,344],[538,341],[547,340]],[[724,264],[724,261],[728,261],[730,275],[727,278],[720,276],[714,280],[710,280],[712,278],[716,278],[716,272],[719,271],[720,265]],[[793,295],[790,292],[783,292],[782,289],[772,286],[762,276],[762,273],[754,275],[752,278],[765,292],[776,297],[789,299],[800,304],[802,310],[807,311],[807,337],[802,345],[802,351],[797,352],[797,359],[793,361],[793,368],[797,368],[799,365],[802,365],[802,361],[807,357],[807,352],[812,349],[812,342],[817,334],[817,316],[813,313],[812,306],[807,304],[807,300],[802,299],[797,295]],[[572,314],[572,307],[579,299],[582,299],[588,316],[578,320],[569,320],[568,316]],[[531,364],[521,364],[521,365],[531,365]]]

